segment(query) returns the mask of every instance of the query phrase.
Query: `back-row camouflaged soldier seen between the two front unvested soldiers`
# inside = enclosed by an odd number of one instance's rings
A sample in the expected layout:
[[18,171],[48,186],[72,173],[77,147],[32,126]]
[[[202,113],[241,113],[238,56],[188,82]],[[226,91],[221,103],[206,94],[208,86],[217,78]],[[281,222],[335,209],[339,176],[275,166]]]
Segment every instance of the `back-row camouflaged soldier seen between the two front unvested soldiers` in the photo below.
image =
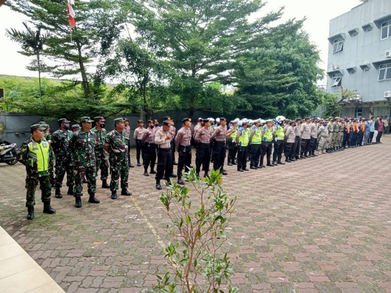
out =
[[103,117],[95,117],[94,121],[96,126],[91,131],[96,134],[96,145],[95,145],[95,159],[96,159],[96,172],[100,169],[100,180],[102,180],[102,188],[110,188],[107,184],[108,176],[108,160],[106,151],[103,150],[103,142],[106,137],[107,131],[104,129],[105,120]]

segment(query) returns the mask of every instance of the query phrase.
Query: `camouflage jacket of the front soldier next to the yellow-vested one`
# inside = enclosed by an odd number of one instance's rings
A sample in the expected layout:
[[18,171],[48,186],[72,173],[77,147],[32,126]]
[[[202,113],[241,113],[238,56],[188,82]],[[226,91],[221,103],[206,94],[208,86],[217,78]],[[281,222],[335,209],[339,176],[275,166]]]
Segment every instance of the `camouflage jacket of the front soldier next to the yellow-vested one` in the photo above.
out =
[[74,155],[76,167],[95,167],[96,134],[93,131],[84,132],[82,129],[72,134],[69,148]]

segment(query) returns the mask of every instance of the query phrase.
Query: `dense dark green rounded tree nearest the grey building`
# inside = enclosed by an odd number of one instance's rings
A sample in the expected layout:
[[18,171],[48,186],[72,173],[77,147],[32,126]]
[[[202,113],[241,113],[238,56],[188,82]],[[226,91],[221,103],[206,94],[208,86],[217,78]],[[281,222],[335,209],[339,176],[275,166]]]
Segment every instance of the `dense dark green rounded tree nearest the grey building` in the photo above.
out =
[[322,102],[316,86],[323,75],[319,62],[319,51],[300,26],[242,54],[235,64],[236,95],[251,105],[243,115],[296,118],[310,114]]

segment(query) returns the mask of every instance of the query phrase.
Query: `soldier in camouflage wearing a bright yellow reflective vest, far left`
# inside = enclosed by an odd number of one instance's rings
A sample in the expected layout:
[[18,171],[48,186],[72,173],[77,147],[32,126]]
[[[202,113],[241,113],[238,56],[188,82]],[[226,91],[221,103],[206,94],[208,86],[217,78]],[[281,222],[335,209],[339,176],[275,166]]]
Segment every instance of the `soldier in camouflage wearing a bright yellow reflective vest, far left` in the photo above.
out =
[[27,219],[34,219],[35,190],[38,182],[41,188],[41,200],[43,212],[54,214],[55,210],[50,206],[51,185],[48,172],[50,145],[44,138],[46,126],[34,124],[30,127],[32,137],[22,143],[18,160],[26,166],[26,208]]

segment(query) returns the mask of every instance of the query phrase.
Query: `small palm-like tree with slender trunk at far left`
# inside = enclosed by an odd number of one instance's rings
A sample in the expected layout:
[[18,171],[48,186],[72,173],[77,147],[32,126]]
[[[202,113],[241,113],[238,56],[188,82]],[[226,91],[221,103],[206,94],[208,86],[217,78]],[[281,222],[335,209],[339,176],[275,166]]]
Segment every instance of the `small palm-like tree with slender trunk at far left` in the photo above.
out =
[[39,25],[36,27],[36,31],[33,28],[30,28],[26,22],[22,22],[26,31],[16,31],[13,28],[11,30],[6,30],[8,37],[21,45],[23,51],[19,51],[22,55],[25,56],[35,56],[37,66],[34,66],[34,61],[32,62],[33,66],[27,67],[30,70],[38,70],[38,80],[39,80],[39,98],[42,100],[42,91],[41,91],[41,52],[43,51],[43,45],[48,38],[47,34],[41,34],[42,26]]

